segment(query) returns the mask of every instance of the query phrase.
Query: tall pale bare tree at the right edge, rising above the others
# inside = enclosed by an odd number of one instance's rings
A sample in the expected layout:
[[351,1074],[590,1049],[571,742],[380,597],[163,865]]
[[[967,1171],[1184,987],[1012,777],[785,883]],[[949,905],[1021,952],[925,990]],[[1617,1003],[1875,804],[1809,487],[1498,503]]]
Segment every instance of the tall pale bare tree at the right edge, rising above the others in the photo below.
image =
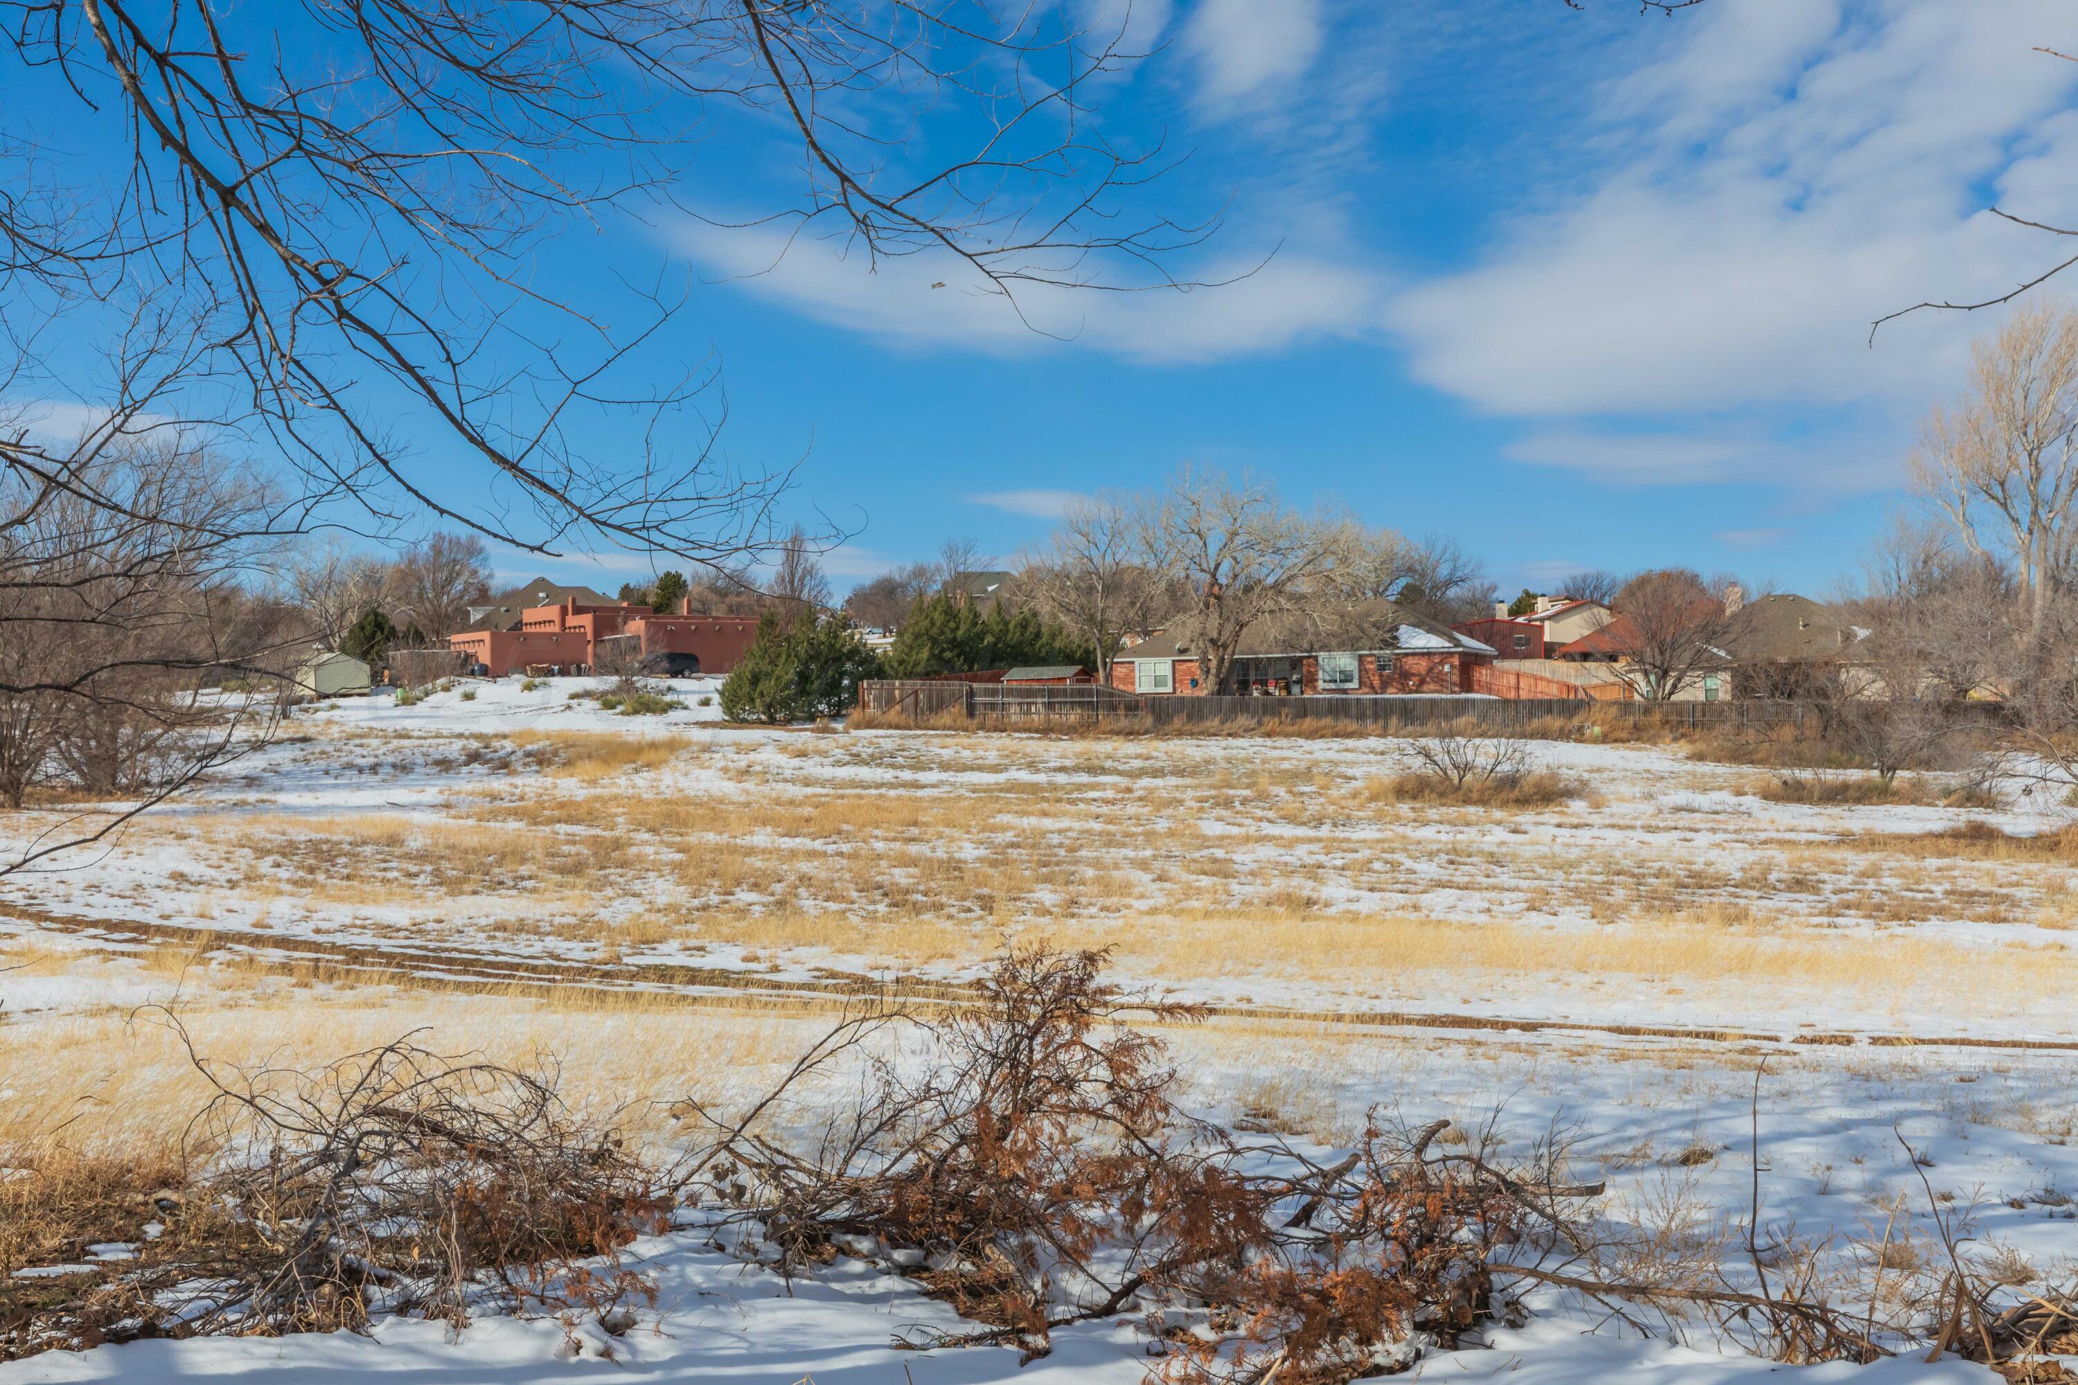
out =
[[1978,561],[2014,569],[2039,633],[2078,559],[2078,311],[2026,307],[1970,355],[1970,392],[1926,419],[1912,480]]

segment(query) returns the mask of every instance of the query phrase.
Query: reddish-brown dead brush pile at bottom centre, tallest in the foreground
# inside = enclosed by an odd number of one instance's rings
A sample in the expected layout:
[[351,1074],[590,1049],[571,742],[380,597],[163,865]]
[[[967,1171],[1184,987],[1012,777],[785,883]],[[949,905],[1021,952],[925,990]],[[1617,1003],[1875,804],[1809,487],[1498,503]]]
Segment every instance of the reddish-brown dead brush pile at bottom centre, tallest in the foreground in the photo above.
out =
[[[783,1088],[736,1121],[702,1109],[715,1138],[688,1186],[790,1271],[881,1258],[979,1325],[912,1346],[1031,1358],[1054,1329],[1141,1310],[1166,1379],[1322,1385],[1459,1341],[1498,1310],[1500,1248],[1600,1194],[1554,1182],[1550,1150],[1515,1169],[1432,1155],[1446,1121],[1374,1119],[1334,1165],[1241,1144],[1178,1109],[1162,1042],[1124,1024],[1197,1011],[1124,993],[1101,963],[1012,949],[979,1005],[918,1022],[914,1074],[873,1063],[864,1098],[808,1140],[744,1134]],[[896,1022],[848,1022],[819,1061]]]

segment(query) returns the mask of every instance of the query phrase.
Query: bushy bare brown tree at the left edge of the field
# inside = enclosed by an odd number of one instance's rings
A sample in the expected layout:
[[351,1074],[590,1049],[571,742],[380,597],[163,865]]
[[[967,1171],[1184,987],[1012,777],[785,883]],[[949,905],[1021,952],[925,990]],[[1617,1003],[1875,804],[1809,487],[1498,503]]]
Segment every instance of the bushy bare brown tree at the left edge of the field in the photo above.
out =
[[39,781],[131,799],[52,824],[0,874],[264,737],[276,698],[212,689],[283,673],[287,637],[235,583],[270,505],[264,482],[170,438],[71,463],[64,486],[0,473],[0,804]]

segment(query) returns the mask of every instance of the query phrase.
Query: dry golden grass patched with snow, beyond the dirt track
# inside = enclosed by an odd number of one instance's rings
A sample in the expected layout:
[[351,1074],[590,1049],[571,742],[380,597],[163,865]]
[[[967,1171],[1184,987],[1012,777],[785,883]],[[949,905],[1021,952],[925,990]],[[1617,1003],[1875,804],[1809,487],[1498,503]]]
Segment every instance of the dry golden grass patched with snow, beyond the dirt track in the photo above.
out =
[[[515,941],[607,963],[669,945],[694,961],[823,949],[846,970],[921,968],[1043,930],[1180,978],[1363,990],[1403,972],[1546,970],[1577,984],[1760,984],[1781,968],[1789,984],[1839,978],[1872,1003],[1922,961],[2003,966],[1997,949],[1953,949],[1922,924],[2078,928],[2078,849],[1968,831],[1870,837],[1854,808],[1800,814],[1797,835],[1714,799],[1664,812],[1656,795],[1671,787],[1731,779],[1664,756],[1606,756],[1610,775],[1588,793],[1534,775],[1438,802],[1394,777],[1409,756],[1390,741],[522,739],[522,772],[457,781],[445,816],[305,818],[262,802],[152,820],[135,839],[191,864],[94,901],[258,939],[316,914],[320,930],[478,957]],[[414,754],[449,748],[428,739]],[[1812,822],[1839,837],[1812,839]],[[1891,860],[1872,860],[1876,847]],[[56,882],[46,907],[64,912],[75,889]],[[1590,920],[1600,928],[1581,930]],[[2061,974],[2063,955],[2041,966]]]

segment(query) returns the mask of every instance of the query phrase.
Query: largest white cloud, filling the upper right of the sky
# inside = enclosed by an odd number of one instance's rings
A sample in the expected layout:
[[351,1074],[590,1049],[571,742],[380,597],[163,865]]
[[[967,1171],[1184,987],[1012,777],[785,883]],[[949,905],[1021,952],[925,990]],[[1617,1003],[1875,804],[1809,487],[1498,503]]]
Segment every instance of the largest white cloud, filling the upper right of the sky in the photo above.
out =
[[[1816,405],[1897,432],[1955,386],[1991,322],[1920,314],[1874,349],[1868,324],[2053,262],[2049,237],[1982,208],[1987,187],[2022,214],[2078,210],[2078,116],[2061,112],[2078,66],[2030,52],[2068,10],[1741,0],[1696,17],[1677,52],[1604,93],[1596,147],[1617,162],[1596,185],[1517,218],[1482,264],[1403,293],[1386,320],[1415,376],[1494,413]],[[1640,480],[1741,465],[1708,436],[1575,459],[1565,442],[1519,449]]]

